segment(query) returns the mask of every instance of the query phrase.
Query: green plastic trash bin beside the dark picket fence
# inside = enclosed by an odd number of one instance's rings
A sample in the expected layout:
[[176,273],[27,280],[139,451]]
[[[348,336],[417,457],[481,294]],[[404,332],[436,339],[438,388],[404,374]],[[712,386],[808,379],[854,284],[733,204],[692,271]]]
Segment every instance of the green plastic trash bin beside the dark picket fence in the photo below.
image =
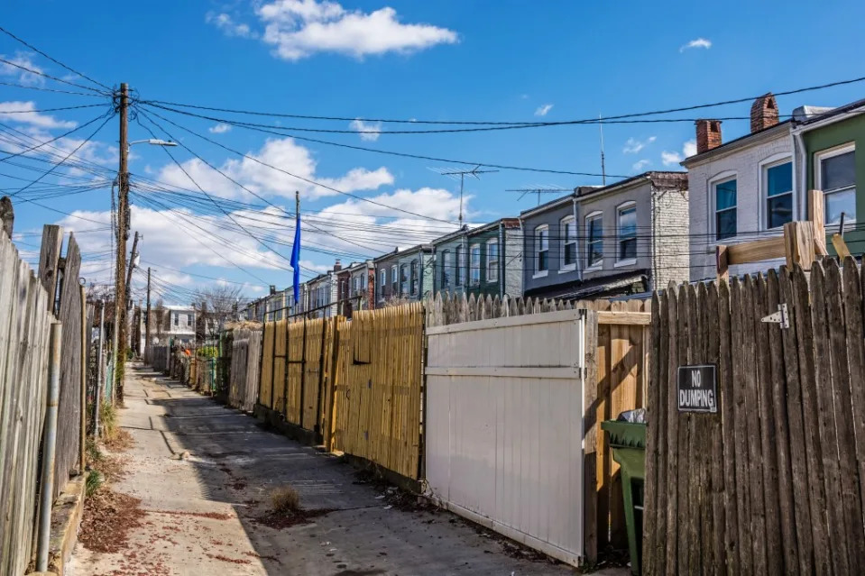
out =
[[[621,416],[620,416],[621,417]],[[630,572],[640,574],[643,548],[643,482],[646,480],[646,425],[623,420],[601,423],[612,448],[612,459],[621,466],[621,494],[628,525]]]

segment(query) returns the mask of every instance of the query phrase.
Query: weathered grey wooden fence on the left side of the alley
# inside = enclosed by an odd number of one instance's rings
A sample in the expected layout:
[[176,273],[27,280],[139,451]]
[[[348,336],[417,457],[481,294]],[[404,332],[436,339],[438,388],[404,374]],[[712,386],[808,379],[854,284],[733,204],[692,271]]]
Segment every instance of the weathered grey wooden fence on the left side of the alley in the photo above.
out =
[[78,245],[70,235],[66,258],[61,260],[61,243],[60,228],[45,226],[39,274],[34,275],[0,231],[0,573],[4,574],[23,573],[33,553],[49,329],[57,316],[64,325],[54,496],[71,473],[81,470],[85,303],[78,284]]

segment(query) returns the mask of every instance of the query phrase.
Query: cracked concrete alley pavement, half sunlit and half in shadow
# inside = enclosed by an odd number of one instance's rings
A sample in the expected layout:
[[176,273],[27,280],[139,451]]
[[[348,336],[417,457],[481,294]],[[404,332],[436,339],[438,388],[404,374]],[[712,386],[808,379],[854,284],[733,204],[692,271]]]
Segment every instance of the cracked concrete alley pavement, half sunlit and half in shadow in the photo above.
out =
[[[134,445],[116,491],[141,498],[142,526],[124,550],[75,548],[73,576],[290,574],[365,576],[574,574],[529,560],[508,541],[445,512],[391,507],[354,469],[253,417],[142,366],[130,366],[120,425]],[[271,489],[331,511],[276,529],[258,521]]]

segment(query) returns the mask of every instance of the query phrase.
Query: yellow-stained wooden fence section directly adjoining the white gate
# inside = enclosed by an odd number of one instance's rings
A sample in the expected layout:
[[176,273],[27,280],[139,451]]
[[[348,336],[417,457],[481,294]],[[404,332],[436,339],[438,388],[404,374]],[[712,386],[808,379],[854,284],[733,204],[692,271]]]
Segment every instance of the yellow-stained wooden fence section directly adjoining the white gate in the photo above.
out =
[[424,308],[357,310],[337,326],[333,449],[420,478]]

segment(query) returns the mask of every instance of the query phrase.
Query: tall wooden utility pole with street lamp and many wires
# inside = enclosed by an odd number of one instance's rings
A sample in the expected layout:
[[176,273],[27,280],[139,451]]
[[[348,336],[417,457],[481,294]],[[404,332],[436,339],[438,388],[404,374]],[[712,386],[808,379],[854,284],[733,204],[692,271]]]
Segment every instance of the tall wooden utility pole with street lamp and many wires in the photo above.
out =
[[117,112],[120,115],[120,166],[117,169],[117,254],[115,262],[114,379],[117,400],[124,401],[126,349],[126,237],[129,234],[129,142],[127,137],[129,86],[120,85]]

